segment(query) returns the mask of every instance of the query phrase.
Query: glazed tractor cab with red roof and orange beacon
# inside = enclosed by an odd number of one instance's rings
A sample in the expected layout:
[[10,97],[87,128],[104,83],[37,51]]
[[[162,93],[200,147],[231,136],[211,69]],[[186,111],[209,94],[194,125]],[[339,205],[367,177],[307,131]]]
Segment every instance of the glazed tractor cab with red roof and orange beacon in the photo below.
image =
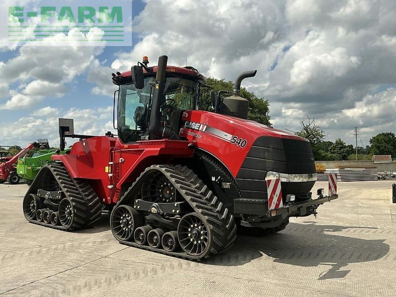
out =
[[[119,86],[114,92],[114,106],[118,93],[117,127],[114,128],[123,143],[158,138],[150,137],[149,132],[158,68],[147,67],[147,60],[143,62],[146,63],[141,63],[140,73],[134,66],[131,71],[113,74],[113,83]],[[178,138],[183,111],[197,109],[200,87],[204,84],[204,76],[192,67],[166,67],[164,90],[158,98],[159,125],[166,128],[173,139]]]

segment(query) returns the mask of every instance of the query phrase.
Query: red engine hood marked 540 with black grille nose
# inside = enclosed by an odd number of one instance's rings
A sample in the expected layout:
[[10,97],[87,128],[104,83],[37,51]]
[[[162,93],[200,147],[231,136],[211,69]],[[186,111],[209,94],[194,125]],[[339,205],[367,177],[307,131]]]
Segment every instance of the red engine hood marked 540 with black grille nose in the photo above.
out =
[[309,198],[316,180],[314,157],[303,137],[213,112],[187,110],[179,136],[217,157],[235,178],[242,198],[267,199],[266,177],[279,174],[282,194]]

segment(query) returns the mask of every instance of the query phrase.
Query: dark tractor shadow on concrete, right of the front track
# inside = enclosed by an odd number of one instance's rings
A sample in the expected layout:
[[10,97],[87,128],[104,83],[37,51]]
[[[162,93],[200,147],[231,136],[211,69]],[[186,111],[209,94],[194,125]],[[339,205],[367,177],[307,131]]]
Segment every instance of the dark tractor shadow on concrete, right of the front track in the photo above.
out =
[[[316,225],[290,223],[278,234],[268,236],[249,236],[238,234],[234,246],[205,263],[210,265],[243,265],[263,255],[273,258],[274,262],[302,267],[316,267],[320,264],[331,268],[318,279],[343,278],[350,270],[340,270],[349,263],[375,261],[389,251],[385,239],[368,240],[359,237],[360,232],[375,234],[378,228]],[[356,232],[356,237],[337,235],[345,229],[364,230]],[[354,233],[351,232],[353,236]]]

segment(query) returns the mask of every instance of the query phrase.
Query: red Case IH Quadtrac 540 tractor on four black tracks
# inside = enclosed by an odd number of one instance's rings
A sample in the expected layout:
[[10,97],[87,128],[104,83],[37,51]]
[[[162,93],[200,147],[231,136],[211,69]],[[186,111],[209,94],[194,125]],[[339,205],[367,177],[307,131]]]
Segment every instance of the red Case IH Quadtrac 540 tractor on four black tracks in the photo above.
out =
[[[192,67],[148,67],[113,74],[118,137],[85,137],[44,166],[23,201],[28,221],[72,230],[95,224],[114,206],[114,237],[129,246],[188,259],[230,247],[237,225],[277,232],[290,216],[316,214],[337,194],[312,199],[307,139],[246,120],[239,96],[211,92],[215,112],[198,110],[205,78]],[[63,139],[77,137],[60,125]],[[78,135],[82,138],[83,135]],[[62,139],[61,139],[62,140]]]

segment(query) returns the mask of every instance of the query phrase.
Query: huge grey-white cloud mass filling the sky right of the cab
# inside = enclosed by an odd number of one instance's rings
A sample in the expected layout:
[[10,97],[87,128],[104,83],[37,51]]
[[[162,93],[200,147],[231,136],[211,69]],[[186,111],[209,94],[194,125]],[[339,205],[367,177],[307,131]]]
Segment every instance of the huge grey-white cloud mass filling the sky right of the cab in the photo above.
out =
[[147,1],[134,23],[141,40],[118,53],[112,68],[128,70],[143,55],[156,65],[166,54],[169,65],[185,65],[187,57],[204,75],[226,80],[258,69],[243,84],[269,99],[279,128],[297,130],[310,115],[324,123],[329,139],[352,142],[353,135],[333,129],[336,121],[369,129],[365,123],[373,121],[364,117],[385,117],[396,125],[374,107],[362,117],[339,117],[361,113],[363,98],[395,84],[395,28],[396,2],[386,0]]

